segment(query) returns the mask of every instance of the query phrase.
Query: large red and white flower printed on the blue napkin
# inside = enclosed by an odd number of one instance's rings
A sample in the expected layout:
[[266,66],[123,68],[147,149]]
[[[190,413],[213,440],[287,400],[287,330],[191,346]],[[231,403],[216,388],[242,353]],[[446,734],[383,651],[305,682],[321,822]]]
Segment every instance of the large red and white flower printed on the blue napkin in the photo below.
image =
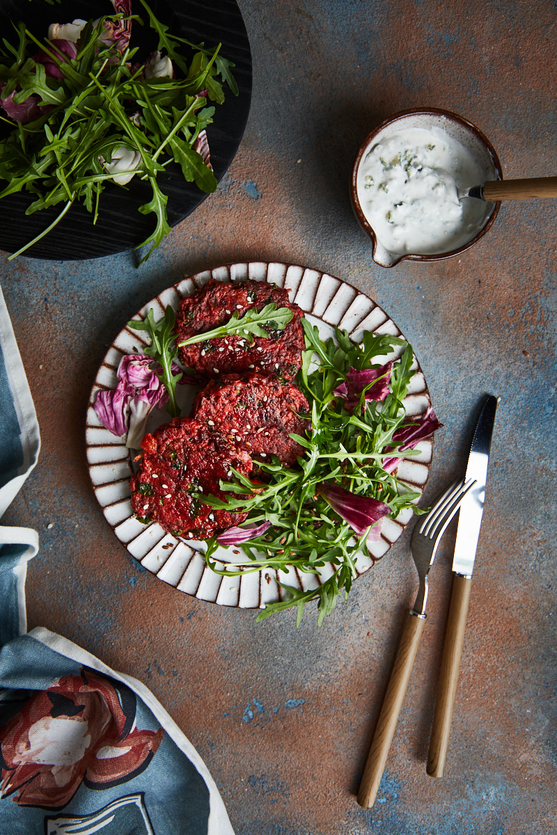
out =
[[2,796],[61,808],[81,782],[103,789],[142,772],[165,731],[134,727],[134,693],[114,685],[90,670],[64,676],[0,728]]

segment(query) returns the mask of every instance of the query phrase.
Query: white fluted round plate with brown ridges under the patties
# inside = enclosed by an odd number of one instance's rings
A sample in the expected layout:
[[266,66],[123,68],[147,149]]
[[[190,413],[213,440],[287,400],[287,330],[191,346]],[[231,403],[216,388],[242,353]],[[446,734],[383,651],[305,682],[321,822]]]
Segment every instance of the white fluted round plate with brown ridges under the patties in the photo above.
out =
[[[163,316],[166,306],[171,305],[177,309],[182,298],[190,296],[210,278],[217,281],[268,281],[284,287],[289,291],[290,300],[296,302],[307,318],[319,326],[322,338],[325,339],[332,336],[334,326],[348,331],[354,341],[361,340],[363,331],[389,333],[404,338],[380,306],[345,281],[303,266],[261,261],[221,266],[185,278],[149,301],[136,318],[144,318],[149,308],[153,308],[155,320]],[[186,544],[166,533],[156,522],[145,525],[135,519],[129,491],[129,478],[132,474],[129,449],[120,438],[116,438],[99,423],[93,403],[99,389],[116,386],[116,372],[122,356],[141,353],[146,344],[148,342],[144,338],[144,331],[124,327],[104,357],[89,398],[85,432],[89,475],[104,517],[114,534],[129,554],[151,574],[199,600],[242,609],[257,609],[281,600],[283,592],[279,581],[301,590],[317,588],[333,573],[331,564],[326,564],[319,574],[300,574],[291,567],[286,571],[262,569],[238,577],[222,576],[215,574],[205,564],[205,543]],[[398,349],[389,358],[400,356],[401,353],[402,349]],[[415,357],[413,368],[414,376],[408,395],[404,398],[404,406],[408,415],[417,416],[425,412],[430,405],[430,398],[423,372]],[[165,423],[168,419],[164,413],[159,416],[157,423]],[[428,480],[432,440],[419,443],[417,451],[418,457],[399,464],[397,475],[409,488],[421,495]],[[371,547],[375,559],[387,553],[403,533],[412,515],[412,510],[405,510],[398,514],[397,519],[383,519],[381,537]],[[222,549],[221,554],[217,552],[217,559],[219,555],[223,561],[217,562],[217,566],[224,569],[225,549]],[[370,569],[372,564],[372,559],[360,554],[356,562],[358,575]]]

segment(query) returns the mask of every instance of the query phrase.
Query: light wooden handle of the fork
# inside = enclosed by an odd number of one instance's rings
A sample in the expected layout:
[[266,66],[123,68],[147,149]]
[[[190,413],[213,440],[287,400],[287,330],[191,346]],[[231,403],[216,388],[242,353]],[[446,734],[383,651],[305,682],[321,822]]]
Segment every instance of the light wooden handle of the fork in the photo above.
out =
[[425,620],[425,615],[414,615],[410,612],[404,626],[357,795],[357,802],[364,809],[371,809],[377,797],[377,789],[381,782],[385,762],[387,762],[387,754],[391,747],[398,716],[403,707],[404,695],[418,652]]

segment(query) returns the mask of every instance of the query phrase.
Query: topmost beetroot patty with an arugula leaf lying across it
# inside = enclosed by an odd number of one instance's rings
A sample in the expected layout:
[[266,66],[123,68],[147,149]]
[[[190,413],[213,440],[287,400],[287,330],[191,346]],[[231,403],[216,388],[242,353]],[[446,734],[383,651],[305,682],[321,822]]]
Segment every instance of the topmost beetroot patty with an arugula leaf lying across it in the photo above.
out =
[[193,296],[180,301],[176,316],[176,342],[224,325],[233,313],[242,316],[249,308],[275,302],[293,312],[284,330],[269,329],[269,338],[247,336],[220,337],[179,349],[180,362],[198,377],[219,377],[231,372],[262,371],[292,380],[301,367],[305,348],[301,328],[303,313],[288,301],[288,291],[266,281],[221,282],[211,279]]

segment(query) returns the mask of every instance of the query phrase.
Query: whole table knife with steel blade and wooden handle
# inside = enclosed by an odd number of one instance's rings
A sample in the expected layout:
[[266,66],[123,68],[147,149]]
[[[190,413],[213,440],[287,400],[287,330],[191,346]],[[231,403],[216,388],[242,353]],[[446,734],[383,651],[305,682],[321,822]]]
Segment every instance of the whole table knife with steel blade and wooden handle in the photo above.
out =
[[458,670],[463,652],[464,629],[468,616],[473,563],[478,548],[482,514],[484,513],[489,448],[498,402],[499,398],[493,395],[489,395],[485,401],[468,456],[466,478],[475,478],[476,483],[471,490],[468,490],[468,494],[463,499],[458,512],[458,530],[453,558],[453,591],[448,610],[437,703],[429,744],[427,770],[430,777],[443,777],[447,758],[448,737],[453,719]]

